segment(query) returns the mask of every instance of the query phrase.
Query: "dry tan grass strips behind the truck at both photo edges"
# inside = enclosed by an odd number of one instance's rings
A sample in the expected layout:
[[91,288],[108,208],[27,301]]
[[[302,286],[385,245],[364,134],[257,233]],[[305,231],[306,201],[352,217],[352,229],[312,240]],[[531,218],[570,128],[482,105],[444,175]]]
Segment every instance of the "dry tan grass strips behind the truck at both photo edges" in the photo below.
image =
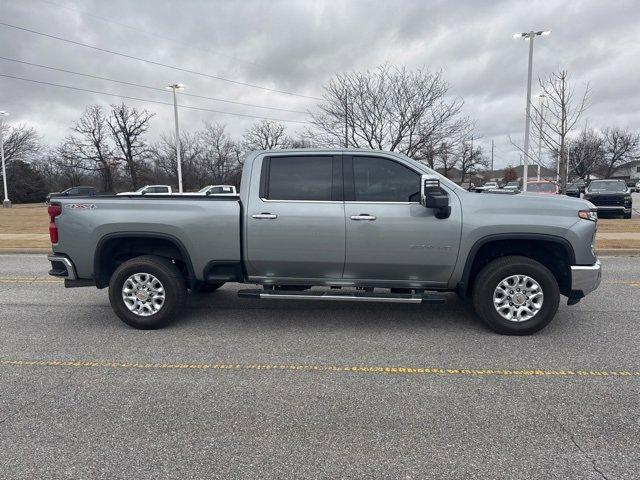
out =
[[[0,208],[0,233],[42,233],[48,234],[49,219],[47,208],[42,204],[14,205],[13,208]],[[598,221],[599,232],[640,233],[640,218],[631,220],[603,218]],[[0,252],[7,249],[50,248],[49,238],[42,239],[0,239]],[[633,248],[640,249],[640,240],[636,239],[599,239],[597,248]]]

